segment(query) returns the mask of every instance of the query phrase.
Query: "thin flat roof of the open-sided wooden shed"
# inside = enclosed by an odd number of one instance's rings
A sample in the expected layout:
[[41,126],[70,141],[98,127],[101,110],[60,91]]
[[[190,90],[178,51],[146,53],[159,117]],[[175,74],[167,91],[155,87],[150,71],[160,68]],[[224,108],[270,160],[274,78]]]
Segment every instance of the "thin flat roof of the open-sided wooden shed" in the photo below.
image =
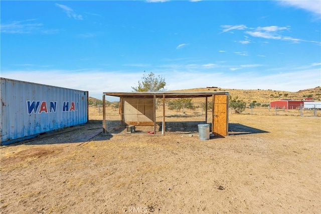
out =
[[205,91],[205,92],[104,92],[103,95],[114,97],[132,97],[132,98],[195,98],[195,97],[211,97],[215,94],[229,94],[227,91]]

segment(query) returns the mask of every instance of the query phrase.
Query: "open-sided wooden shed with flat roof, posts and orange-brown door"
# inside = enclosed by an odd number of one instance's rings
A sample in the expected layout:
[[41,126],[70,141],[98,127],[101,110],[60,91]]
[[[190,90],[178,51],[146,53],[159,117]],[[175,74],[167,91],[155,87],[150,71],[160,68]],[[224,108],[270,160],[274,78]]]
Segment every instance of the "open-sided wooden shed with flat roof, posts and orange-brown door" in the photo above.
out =
[[205,123],[212,124],[212,133],[215,136],[228,134],[228,100],[229,93],[222,92],[104,92],[103,93],[103,129],[106,133],[106,99],[105,96],[119,97],[120,121],[126,125],[151,125],[156,133],[156,99],[161,99],[163,105],[162,134],[165,134],[166,108],[165,100],[171,98],[205,98],[205,109],[208,102],[212,102],[211,121],[208,121],[208,112],[205,111]]

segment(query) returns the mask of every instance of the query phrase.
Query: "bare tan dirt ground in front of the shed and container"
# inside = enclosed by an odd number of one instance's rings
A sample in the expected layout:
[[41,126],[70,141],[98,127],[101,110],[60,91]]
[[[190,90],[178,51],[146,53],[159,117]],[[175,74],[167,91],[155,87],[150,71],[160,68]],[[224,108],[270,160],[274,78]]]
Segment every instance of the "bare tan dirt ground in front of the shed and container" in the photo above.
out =
[[230,135],[101,134],[2,146],[1,213],[320,213],[320,117],[229,115]]

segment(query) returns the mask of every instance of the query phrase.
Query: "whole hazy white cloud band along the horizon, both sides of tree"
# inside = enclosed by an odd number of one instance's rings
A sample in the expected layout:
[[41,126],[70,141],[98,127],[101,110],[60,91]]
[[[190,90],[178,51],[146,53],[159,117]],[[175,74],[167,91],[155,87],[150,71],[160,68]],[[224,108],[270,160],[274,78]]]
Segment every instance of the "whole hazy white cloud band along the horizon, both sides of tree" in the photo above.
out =
[[[205,64],[209,65],[209,64]],[[208,72],[202,65],[190,64],[159,66],[150,70],[163,76],[168,90],[191,89],[216,85],[226,89],[273,89],[282,91],[298,91],[320,86],[321,63],[311,63],[300,68],[278,68],[271,70],[236,73],[238,69],[253,68],[259,64],[233,66],[217,66],[215,72]],[[187,69],[189,67],[189,69]],[[275,69],[276,70],[276,69]],[[249,70],[250,71],[250,70]],[[37,70],[2,71],[2,77],[28,81],[64,88],[89,91],[89,96],[102,99],[103,92],[130,92],[141,80],[142,72],[106,71],[97,69],[82,70]],[[77,78],[75,78],[77,77]]]

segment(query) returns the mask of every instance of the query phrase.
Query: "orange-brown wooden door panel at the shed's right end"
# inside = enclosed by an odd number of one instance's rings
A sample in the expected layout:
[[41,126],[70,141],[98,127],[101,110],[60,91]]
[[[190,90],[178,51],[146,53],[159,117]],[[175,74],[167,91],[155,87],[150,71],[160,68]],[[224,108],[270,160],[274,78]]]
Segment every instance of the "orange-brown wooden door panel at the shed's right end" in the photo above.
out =
[[228,94],[213,95],[212,133],[215,136],[228,135]]

